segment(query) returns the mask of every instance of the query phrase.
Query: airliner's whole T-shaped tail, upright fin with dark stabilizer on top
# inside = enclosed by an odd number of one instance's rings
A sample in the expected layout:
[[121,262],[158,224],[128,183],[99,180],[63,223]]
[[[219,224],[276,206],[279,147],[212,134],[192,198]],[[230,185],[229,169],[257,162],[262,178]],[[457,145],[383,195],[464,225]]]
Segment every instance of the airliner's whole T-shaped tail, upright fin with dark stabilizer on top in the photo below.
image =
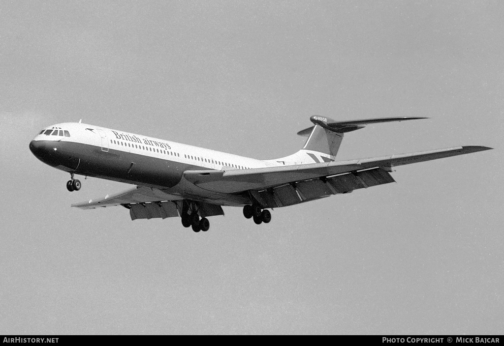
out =
[[331,162],[336,159],[344,133],[364,128],[368,124],[415,119],[428,118],[395,117],[335,121],[331,118],[314,115],[310,117],[310,121],[314,125],[297,133],[300,136],[308,136],[303,148],[292,155],[268,161],[285,165]]

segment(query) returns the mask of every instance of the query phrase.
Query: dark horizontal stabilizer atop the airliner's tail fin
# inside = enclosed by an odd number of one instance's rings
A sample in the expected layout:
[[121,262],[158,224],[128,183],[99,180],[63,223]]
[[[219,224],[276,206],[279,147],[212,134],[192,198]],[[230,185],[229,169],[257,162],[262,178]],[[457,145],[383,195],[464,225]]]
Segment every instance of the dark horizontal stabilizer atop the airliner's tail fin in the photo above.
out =
[[[405,120],[417,120],[417,119],[428,119],[423,117],[394,117],[394,118],[375,118],[375,119],[361,119],[361,120],[348,120],[348,121],[335,121],[331,118],[320,117],[314,115],[310,117],[310,121],[315,125],[320,125],[321,127],[338,132],[345,133],[350,131],[355,131],[365,127],[368,124],[376,123],[388,123],[392,121],[405,121]],[[304,130],[299,131],[297,134],[299,136],[309,136],[314,126],[308,127]]]

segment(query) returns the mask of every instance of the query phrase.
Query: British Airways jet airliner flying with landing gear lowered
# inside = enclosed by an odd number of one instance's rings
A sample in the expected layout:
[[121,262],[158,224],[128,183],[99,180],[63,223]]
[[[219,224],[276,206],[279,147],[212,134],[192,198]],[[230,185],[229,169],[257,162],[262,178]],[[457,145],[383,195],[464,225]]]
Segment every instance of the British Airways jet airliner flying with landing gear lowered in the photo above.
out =
[[308,137],[292,155],[259,160],[139,134],[78,123],[44,128],[30,142],[42,162],[70,173],[68,191],[79,191],[75,175],[136,185],[134,188],[72,207],[123,206],[135,219],[180,217],[184,227],[208,231],[208,217],[224,215],[222,206],[242,207],[256,224],[269,223],[269,209],[287,207],[354,190],[393,183],[393,167],[492,149],[445,149],[337,161],[343,135],[366,125],[427,119],[375,118],[335,121],[312,116]]

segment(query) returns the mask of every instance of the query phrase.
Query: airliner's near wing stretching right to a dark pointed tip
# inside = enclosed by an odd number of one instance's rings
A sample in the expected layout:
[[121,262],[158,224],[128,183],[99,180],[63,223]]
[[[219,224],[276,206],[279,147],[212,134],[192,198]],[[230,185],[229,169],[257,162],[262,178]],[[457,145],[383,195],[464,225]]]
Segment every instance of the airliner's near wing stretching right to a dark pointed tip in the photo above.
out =
[[[491,148],[473,145],[348,161],[275,166],[245,170],[235,169],[228,171],[193,170],[185,171],[184,177],[186,180],[203,189],[230,194],[247,190],[267,190],[285,184],[298,184],[299,182],[306,182],[318,178],[324,178],[324,180],[332,179],[332,176],[336,175],[343,175],[371,168],[380,168],[379,174],[385,177],[382,179],[383,183],[380,184],[385,184],[386,182],[394,181],[387,173],[387,171],[391,171],[391,168],[394,166],[488,149]],[[357,181],[359,180],[357,179]],[[367,187],[366,185],[367,184],[363,184],[361,187]],[[336,192],[330,188],[329,190],[333,193],[338,193],[338,190],[336,190]],[[351,190],[353,189],[350,189],[350,191]],[[299,191],[297,191],[297,193],[299,193]]]

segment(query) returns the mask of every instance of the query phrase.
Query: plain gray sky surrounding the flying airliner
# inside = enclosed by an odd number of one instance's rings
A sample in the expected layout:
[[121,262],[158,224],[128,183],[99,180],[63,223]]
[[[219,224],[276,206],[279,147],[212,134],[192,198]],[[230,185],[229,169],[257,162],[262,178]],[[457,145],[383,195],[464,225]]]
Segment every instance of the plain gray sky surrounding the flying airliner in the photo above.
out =
[[[504,330],[501,2],[0,3],[0,333]],[[339,158],[486,145],[397,184],[239,208],[196,234],[72,203],[128,186],[38,161],[83,122],[256,158],[319,114],[368,126]]]

